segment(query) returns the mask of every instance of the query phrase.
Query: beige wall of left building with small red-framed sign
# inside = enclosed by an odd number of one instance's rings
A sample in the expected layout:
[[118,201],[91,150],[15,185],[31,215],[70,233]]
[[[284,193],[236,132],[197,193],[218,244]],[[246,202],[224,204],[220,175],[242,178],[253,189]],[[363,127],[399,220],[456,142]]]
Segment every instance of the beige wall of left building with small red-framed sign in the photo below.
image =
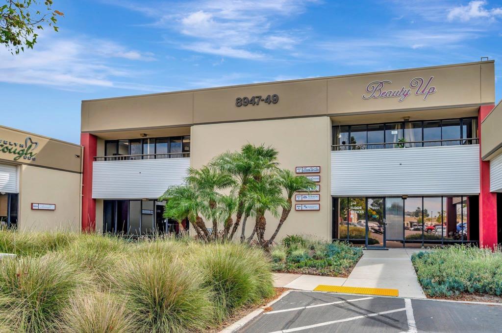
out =
[[[18,227],[80,231],[80,184],[80,173],[22,165]],[[32,210],[32,203],[56,204],[56,210]]]

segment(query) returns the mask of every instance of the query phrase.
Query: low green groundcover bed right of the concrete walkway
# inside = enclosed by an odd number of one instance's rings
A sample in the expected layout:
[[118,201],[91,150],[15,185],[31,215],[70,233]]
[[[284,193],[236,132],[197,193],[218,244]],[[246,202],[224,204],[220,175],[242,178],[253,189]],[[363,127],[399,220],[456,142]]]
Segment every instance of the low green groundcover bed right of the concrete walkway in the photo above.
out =
[[454,245],[412,255],[426,294],[448,297],[461,293],[502,295],[502,252]]

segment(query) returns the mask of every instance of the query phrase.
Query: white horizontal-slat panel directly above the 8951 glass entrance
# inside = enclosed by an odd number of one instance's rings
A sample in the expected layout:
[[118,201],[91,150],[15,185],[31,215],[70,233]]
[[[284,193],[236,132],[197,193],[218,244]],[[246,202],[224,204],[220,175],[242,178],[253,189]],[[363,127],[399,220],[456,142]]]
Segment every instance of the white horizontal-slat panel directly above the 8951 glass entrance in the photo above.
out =
[[477,144],[331,151],[333,196],[478,193]]

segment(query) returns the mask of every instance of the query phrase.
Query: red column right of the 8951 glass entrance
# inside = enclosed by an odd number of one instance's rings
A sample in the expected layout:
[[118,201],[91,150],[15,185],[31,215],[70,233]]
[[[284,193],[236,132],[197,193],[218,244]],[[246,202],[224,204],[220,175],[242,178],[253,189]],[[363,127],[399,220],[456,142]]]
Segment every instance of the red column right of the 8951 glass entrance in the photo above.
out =
[[[488,116],[494,105],[479,108],[478,138],[481,145],[481,122]],[[479,149],[479,246],[494,248],[497,244],[497,197],[490,192],[490,162],[481,160]]]

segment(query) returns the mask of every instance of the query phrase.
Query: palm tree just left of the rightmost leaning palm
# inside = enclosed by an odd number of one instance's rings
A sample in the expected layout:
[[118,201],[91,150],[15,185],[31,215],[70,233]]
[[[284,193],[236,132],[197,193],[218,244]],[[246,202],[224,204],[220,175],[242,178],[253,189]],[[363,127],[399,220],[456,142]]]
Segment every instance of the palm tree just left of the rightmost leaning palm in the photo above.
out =
[[254,180],[251,182],[248,197],[253,202],[253,212],[256,217],[255,232],[258,236],[258,243],[265,245],[264,236],[267,227],[265,213],[269,212],[272,216],[279,218],[279,207],[287,208],[289,203],[282,196],[281,187],[273,174],[263,175],[260,181]]

